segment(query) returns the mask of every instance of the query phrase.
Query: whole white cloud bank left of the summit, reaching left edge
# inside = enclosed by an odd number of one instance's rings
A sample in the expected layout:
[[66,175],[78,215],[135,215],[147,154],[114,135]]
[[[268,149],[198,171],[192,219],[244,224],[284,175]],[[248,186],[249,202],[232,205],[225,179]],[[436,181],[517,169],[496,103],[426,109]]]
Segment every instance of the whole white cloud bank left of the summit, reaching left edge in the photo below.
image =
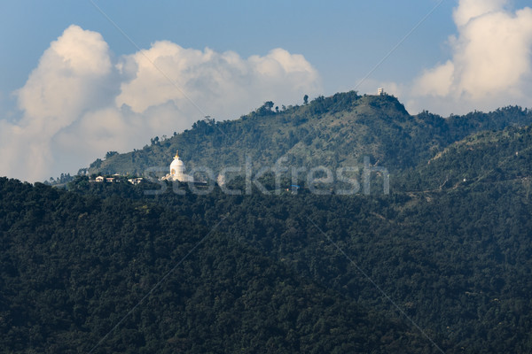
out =
[[113,59],[101,35],[73,25],[15,93],[20,118],[0,120],[0,175],[43,181],[203,115],[233,119],[264,101],[291,104],[320,92],[314,67],[283,49],[241,58],[161,41]]

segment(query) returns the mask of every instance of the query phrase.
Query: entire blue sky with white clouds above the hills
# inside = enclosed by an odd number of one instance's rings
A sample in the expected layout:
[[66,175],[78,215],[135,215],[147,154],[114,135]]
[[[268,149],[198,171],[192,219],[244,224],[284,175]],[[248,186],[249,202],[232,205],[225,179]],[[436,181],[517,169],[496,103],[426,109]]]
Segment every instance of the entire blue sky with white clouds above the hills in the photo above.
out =
[[523,0],[18,0],[0,33],[0,175],[23,181],[304,95],[382,87],[444,117],[532,107]]

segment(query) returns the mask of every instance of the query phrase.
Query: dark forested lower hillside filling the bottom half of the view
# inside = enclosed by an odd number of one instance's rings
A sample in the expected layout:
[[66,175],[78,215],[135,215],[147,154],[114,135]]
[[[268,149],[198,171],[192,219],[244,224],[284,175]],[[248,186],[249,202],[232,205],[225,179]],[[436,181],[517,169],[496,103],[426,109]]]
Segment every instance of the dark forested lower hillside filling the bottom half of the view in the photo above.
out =
[[[436,161],[454,164],[469,141],[512,150],[528,134],[468,137],[414,173],[442,175]],[[446,353],[532,350],[532,204],[519,179],[389,196],[1,182],[5,350],[90,350],[213,227],[95,352],[438,352],[360,269]]]

